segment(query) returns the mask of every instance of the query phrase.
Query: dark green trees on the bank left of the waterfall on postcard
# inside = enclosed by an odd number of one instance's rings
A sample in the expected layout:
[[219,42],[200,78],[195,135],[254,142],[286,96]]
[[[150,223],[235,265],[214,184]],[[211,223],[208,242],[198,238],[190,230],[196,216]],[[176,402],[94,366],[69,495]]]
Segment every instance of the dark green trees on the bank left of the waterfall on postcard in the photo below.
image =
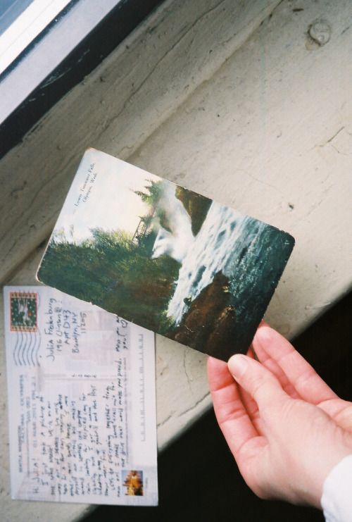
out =
[[47,285],[160,330],[179,265],[168,257],[150,259],[144,245],[125,231],[96,228],[80,244],[61,235],[51,240],[39,269]]

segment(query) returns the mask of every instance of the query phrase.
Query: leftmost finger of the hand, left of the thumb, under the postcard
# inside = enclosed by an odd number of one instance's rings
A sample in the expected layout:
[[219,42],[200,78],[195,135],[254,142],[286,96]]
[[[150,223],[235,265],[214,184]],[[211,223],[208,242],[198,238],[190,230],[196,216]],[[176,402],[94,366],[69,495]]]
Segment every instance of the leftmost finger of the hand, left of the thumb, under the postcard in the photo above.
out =
[[241,402],[237,384],[228,371],[227,363],[208,357],[208,381],[215,416],[234,458],[239,464],[239,452],[258,432]]

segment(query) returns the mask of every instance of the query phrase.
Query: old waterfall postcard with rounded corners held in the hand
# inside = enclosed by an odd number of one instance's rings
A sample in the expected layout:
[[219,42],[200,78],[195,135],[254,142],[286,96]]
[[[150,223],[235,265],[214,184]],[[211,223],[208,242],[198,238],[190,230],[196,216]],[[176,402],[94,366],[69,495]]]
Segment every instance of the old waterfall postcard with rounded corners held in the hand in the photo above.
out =
[[189,347],[246,352],[287,232],[88,149],[38,279]]

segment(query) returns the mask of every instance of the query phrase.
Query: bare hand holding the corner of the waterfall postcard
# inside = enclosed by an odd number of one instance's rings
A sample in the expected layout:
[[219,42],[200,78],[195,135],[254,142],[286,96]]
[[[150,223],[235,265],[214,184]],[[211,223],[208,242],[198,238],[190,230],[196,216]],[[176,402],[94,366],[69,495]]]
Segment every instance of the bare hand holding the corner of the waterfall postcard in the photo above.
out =
[[252,349],[228,365],[208,358],[222,433],[256,495],[320,507],[329,471],[352,454],[352,403],[265,323],[252,347],[260,362]]

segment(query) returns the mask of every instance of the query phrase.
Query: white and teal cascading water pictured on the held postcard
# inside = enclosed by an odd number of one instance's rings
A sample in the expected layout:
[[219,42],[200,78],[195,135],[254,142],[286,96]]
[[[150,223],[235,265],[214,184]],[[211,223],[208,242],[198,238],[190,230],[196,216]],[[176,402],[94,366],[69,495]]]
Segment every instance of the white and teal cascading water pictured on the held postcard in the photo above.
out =
[[[210,205],[201,230],[194,237],[191,220],[175,189],[166,205],[170,230],[159,230],[153,256],[168,254],[181,267],[168,316],[180,325],[191,302],[222,272],[228,280],[231,304],[236,313],[237,343],[244,347],[253,336],[282,273],[293,239],[270,225],[222,206]],[[171,228],[172,227],[172,228]],[[166,232],[166,234],[165,234]]]

